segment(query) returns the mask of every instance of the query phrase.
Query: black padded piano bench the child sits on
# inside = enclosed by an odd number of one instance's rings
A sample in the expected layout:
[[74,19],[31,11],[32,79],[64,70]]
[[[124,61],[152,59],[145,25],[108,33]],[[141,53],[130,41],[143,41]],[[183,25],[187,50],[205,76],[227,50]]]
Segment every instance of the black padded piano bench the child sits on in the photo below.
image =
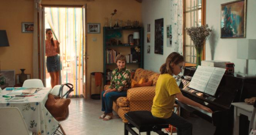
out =
[[128,120],[128,123],[124,123],[124,135],[128,135],[129,132],[137,135],[132,127],[136,127],[139,132],[146,132],[147,135],[150,135],[151,131],[165,134],[161,129],[169,127],[165,121],[154,118],[150,111],[130,111],[124,114],[124,118]]

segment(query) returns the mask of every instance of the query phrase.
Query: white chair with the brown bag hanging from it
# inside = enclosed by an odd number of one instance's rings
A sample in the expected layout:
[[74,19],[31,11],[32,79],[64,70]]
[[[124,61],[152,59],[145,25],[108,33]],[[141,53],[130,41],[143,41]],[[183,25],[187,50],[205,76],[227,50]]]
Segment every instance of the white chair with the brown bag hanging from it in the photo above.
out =
[[[63,85],[55,85],[52,89],[52,91],[50,92],[50,94],[55,95],[55,96],[59,96],[60,98],[68,98],[68,95],[73,91],[73,85],[71,83],[66,83]],[[69,112],[66,115],[66,119],[68,119],[69,117]],[[64,121],[64,120],[62,120]],[[61,121],[59,121],[61,122]],[[59,127],[57,127],[56,131],[62,131],[63,134],[66,134],[63,127],[61,126],[61,124],[59,124]],[[54,134],[57,134],[56,131],[54,132]],[[61,133],[59,131],[59,133]],[[61,133],[61,134],[62,134]]]

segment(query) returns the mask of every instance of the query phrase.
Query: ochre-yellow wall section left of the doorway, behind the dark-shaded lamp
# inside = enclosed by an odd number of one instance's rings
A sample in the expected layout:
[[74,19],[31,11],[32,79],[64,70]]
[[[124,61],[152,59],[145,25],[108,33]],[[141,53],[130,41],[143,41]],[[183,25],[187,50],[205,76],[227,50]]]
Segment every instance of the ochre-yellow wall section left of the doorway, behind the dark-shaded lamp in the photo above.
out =
[[21,33],[21,22],[33,22],[34,1],[0,1],[0,30],[6,30],[9,47],[0,47],[1,69],[32,73],[33,33]]

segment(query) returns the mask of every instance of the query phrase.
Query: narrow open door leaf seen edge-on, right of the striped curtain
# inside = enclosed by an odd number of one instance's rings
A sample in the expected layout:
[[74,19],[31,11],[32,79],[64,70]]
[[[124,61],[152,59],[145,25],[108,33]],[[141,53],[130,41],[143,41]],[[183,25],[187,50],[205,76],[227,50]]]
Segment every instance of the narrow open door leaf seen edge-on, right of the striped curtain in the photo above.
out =
[[86,32],[86,26],[87,26],[87,5],[85,4],[82,7],[82,19],[83,19],[83,95],[84,98],[87,98],[87,32]]

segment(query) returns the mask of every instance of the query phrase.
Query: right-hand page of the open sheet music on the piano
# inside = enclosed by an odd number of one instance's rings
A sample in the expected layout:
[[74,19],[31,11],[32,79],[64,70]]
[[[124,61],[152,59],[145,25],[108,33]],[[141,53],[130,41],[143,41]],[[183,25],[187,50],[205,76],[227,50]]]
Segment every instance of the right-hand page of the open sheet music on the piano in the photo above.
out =
[[217,87],[219,86],[219,83],[225,71],[226,69],[215,68],[215,70],[212,73],[212,76],[210,76],[209,83],[206,86],[206,89],[204,90],[205,93],[210,95],[215,95],[215,92],[217,91]]

